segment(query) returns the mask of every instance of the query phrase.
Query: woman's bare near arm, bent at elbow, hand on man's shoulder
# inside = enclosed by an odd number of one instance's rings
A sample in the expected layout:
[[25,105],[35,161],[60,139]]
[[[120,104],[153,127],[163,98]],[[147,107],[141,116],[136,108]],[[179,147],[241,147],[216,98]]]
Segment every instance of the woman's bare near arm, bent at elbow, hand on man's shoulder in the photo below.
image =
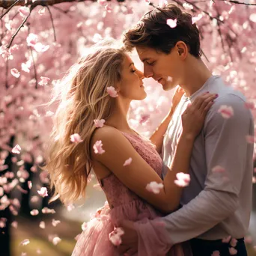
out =
[[[144,198],[157,209],[164,213],[176,210],[180,201],[181,188],[174,184],[178,172],[188,172],[189,160],[192,152],[195,135],[201,130],[204,118],[212,105],[212,97],[201,97],[195,100],[195,104],[186,109],[183,114],[183,132],[180,135],[177,150],[171,164],[171,169],[162,182],[161,178],[147,162],[136,152],[127,138],[112,127],[103,127],[94,132],[91,141],[91,150],[94,160],[102,163],[112,171],[125,186],[135,194]],[[200,108],[198,106],[201,106]],[[105,153],[94,153],[93,144],[102,141]],[[124,162],[132,158],[130,165],[124,166]],[[154,194],[146,189],[148,183],[156,181],[163,183],[164,188],[159,194]]]

